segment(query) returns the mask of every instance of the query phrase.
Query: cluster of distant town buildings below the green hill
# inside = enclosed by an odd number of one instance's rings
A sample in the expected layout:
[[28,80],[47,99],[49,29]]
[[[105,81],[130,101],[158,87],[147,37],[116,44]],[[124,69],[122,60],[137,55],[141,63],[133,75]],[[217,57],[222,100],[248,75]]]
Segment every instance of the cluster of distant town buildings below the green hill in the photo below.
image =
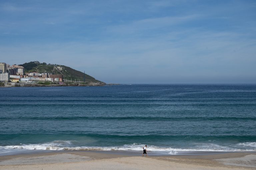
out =
[[[36,62],[36,61],[35,61]],[[53,73],[25,73],[25,69],[20,65],[9,65],[0,63],[0,82],[63,82],[62,74]]]

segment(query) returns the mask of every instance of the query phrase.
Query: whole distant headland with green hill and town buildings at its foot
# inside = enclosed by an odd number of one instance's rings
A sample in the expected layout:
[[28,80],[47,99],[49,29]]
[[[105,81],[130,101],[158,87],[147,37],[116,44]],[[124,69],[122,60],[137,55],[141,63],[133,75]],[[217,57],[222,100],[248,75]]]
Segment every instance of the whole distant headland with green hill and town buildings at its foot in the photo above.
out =
[[65,65],[31,61],[20,65],[0,62],[0,87],[103,86],[106,83]]

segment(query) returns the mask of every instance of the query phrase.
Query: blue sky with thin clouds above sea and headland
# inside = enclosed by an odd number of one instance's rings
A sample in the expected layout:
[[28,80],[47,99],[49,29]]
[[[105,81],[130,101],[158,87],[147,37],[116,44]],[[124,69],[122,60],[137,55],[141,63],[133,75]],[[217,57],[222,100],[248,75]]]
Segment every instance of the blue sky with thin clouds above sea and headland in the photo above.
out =
[[256,83],[255,0],[0,0],[0,62],[106,83]]

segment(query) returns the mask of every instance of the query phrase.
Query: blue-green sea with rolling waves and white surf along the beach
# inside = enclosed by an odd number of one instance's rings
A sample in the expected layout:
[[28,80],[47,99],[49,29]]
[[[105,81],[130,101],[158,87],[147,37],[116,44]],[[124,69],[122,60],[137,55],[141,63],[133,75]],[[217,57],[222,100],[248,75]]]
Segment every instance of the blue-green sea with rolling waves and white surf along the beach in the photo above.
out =
[[256,84],[0,88],[0,155],[256,151]]

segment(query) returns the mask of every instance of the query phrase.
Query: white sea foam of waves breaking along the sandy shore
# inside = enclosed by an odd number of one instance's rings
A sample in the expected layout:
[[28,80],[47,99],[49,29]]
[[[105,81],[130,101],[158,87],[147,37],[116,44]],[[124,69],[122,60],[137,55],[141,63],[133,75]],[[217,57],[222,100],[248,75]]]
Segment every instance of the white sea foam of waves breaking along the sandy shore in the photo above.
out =
[[[238,143],[238,146],[245,146],[241,148],[232,148],[228,146],[221,146],[213,143],[204,143],[197,145],[193,148],[172,148],[172,147],[159,147],[148,145],[147,150],[152,152],[162,152],[168,154],[178,154],[179,152],[190,151],[256,151],[256,142]],[[127,144],[123,146],[112,147],[89,147],[77,146],[73,147],[71,141],[53,141],[43,144],[20,144],[12,146],[0,146],[0,153],[7,152],[9,149],[17,150],[84,150],[84,151],[142,151],[142,144]]]

